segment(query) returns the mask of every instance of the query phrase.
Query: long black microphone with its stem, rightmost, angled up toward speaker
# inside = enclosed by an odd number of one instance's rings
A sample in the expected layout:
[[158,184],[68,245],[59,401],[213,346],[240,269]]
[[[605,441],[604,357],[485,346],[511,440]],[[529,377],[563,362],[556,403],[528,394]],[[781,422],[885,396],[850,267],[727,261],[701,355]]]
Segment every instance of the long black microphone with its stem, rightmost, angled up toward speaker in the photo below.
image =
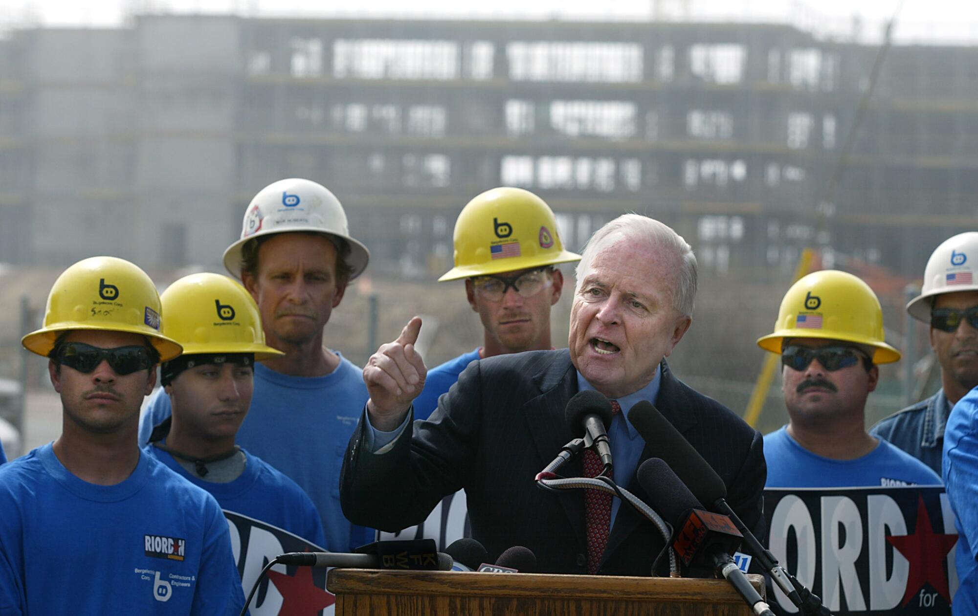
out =
[[[699,452],[689,444],[679,430],[668,419],[645,400],[639,402],[628,412],[628,419],[636,431],[645,439],[645,444],[657,452],[679,479],[689,486],[694,498],[700,503],[708,503],[721,511],[733,521],[737,530],[743,535],[744,543],[762,569],[771,575],[781,592],[786,594],[792,603],[798,607],[821,607],[822,600],[816,594],[806,589],[794,579],[790,573],[778,564],[778,559],[770,550],[757,541],[750,529],[740,520],[733,507],[727,503],[727,485],[717,471],[699,455]],[[805,598],[802,598],[802,594]],[[818,613],[821,610],[814,608]]]

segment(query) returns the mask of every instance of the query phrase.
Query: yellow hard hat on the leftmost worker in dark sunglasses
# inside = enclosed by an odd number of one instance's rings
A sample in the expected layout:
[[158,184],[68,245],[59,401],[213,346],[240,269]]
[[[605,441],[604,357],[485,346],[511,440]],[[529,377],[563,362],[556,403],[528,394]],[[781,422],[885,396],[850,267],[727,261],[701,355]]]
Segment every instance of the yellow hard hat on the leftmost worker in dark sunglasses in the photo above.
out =
[[160,333],[161,312],[159,293],[146,272],[124,259],[91,257],[62,272],[48,295],[44,327],[21,343],[48,357],[65,331],[127,331],[147,336],[165,362],[180,355],[181,346]]

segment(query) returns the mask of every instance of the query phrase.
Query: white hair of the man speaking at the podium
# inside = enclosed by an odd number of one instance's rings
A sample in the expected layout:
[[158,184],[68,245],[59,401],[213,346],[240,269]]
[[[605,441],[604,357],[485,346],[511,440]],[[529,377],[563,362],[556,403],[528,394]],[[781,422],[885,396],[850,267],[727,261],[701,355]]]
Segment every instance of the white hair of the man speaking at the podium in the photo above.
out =
[[676,254],[680,262],[676,273],[679,285],[673,289],[673,307],[684,317],[691,317],[696,299],[696,256],[692,253],[692,247],[668,225],[641,214],[622,214],[591,236],[581,252],[581,260],[577,263],[576,290],[580,290],[581,282],[591,268],[591,261],[600,243],[616,232],[621,232],[626,238],[636,242],[661,246]]

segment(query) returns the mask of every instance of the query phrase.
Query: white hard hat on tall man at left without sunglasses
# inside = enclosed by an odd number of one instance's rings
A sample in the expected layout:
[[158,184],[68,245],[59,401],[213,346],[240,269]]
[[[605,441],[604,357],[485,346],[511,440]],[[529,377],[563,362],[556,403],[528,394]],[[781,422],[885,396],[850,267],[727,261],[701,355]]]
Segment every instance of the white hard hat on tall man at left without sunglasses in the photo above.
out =
[[242,248],[253,238],[275,233],[323,233],[350,247],[345,262],[353,270],[350,280],[367,269],[367,246],[350,237],[346,212],[322,184],[301,178],[279,180],[261,189],[244,210],[242,237],[224,251],[224,267],[241,277]]

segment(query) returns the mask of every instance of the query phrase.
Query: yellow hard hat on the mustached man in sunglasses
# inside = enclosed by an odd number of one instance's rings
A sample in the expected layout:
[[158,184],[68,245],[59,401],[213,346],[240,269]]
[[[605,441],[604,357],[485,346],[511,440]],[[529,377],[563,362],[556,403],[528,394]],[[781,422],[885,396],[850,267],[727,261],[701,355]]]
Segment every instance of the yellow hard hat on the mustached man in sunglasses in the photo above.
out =
[[900,351],[883,341],[883,311],[872,289],[852,274],[824,270],[809,274],[781,300],[775,332],[757,340],[772,353],[784,338],[828,338],[873,347],[873,364],[900,361]]

